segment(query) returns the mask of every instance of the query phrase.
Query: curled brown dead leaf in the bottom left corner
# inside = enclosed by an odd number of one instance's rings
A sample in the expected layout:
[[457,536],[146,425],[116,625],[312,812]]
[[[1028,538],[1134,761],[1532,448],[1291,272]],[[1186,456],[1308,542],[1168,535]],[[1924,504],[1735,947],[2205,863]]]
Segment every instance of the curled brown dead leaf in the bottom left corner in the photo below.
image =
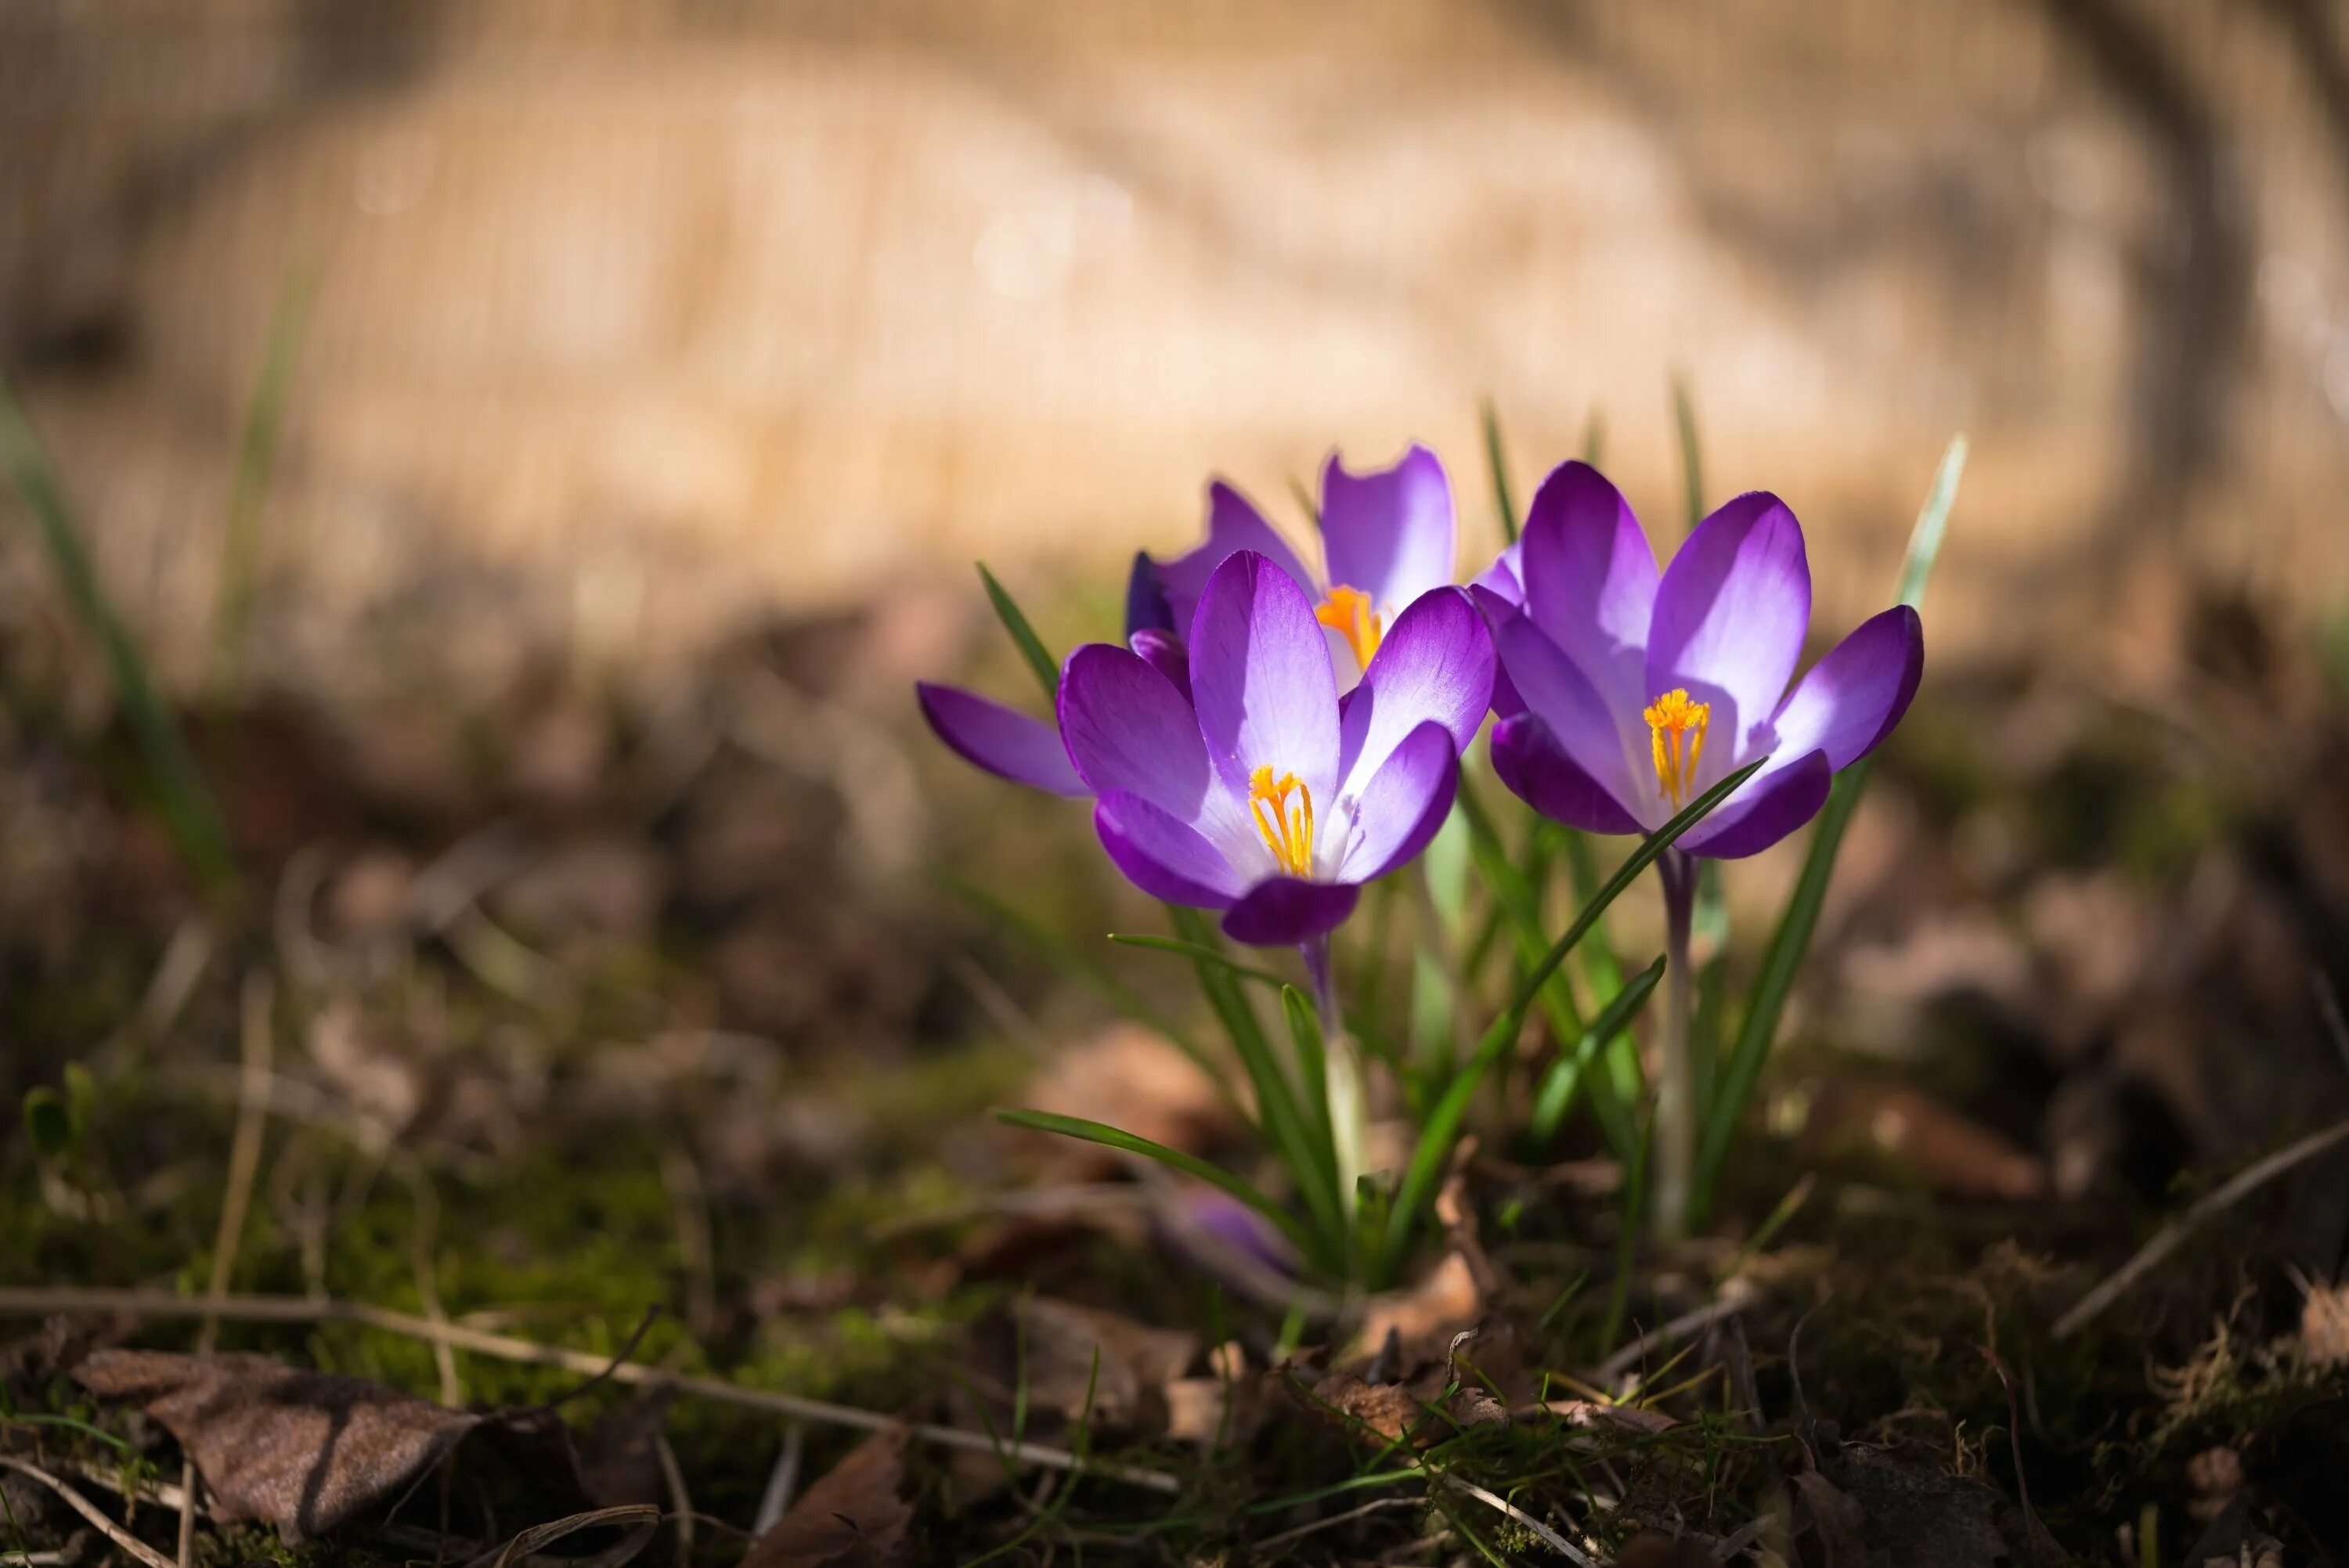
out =
[[482,1425],[381,1383],[254,1354],[99,1350],[73,1376],[160,1420],[204,1472],[223,1519],[265,1519],[289,1542],[395,1500]]

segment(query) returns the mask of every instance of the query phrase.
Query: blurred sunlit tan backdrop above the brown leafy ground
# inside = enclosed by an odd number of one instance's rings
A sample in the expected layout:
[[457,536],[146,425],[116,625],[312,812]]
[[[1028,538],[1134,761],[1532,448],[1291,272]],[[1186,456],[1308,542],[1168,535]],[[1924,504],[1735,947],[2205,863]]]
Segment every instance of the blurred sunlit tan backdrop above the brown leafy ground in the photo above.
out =
[[0,364],[181,683],[289,293],[249,664],[336,702],[1104,577],[1332,446],[1489,552],[1480,397],[1670,516],[1672,376],[1823,620],[1954,430],[1938,648],[2349,566],[2326,0],[26,0],[0,169]]

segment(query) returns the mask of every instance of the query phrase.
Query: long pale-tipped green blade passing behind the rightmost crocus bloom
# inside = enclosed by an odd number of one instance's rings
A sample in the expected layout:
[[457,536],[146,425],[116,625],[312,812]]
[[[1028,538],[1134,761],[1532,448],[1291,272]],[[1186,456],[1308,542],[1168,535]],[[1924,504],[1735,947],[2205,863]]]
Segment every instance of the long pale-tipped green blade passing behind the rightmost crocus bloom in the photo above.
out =
[[[1950,509],[1957,505],[1957,481],[1964,472],[1966,437],[1952,437],[1933,474],[1933,488],[1926,493],[1924,509],[1917,512],[1917,526],[1910,530],[1907,556],[1900,561],[1900,603],[1910,608],[1924,603],[1924,589],[1933,577],[1933,561],[1940,556],[1940,542],[1950,530]],[[1795,988],[1795,974],[1802,969],[1804,955],[1811,951],[1818,911],[1828,901],[1828,880],[1835,876],[1835,854],[1844,845],[1844,831],[1851,826],[1851,812],[1860,803],[1860,791],[1867,789],[1872,768],[1875,758],[1860,758],[1837,775],[1835,789],[1828,791],[1828,805],[1818,812],[1818,826],[1811,829],[1811,850],[1802,861],[1802,876],[1795,880],[1785,913],[1778,915],[1778,930],[1771,932],[1769,948],[1762,953],[1762,972],[1755,976],[1755,988],[1745,1000],[1745,1021],[1738,1026],[1736,1045],[1729,1047],[1729,1061],[1719,1066],[1712,1106],[1705,1113],[1703,1143],[1696,1155],[1691,1223],[1701,1223],[1712,1207],[1722,1167],[1729,1162],[1729,1145],[1736,1141],[1738,1124],[1745,1120],[1745,1106],[1752,1101],[1755,1084],[1762,1082],[1762,1066],[1769,1061],[1771,1042],[1778,1038],[1785,998]]]

